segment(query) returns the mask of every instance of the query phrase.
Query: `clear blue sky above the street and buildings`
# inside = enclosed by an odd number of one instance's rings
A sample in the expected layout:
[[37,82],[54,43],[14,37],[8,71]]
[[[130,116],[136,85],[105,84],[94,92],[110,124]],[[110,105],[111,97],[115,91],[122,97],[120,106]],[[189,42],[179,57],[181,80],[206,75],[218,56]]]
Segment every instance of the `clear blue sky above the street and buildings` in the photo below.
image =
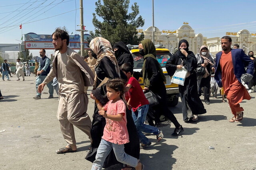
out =
[[[87,30],[94,30],[92,13],[96,1],[83,1]],[[152,0],[130,0],[130,6],[134,2],[145,20],[140,29],[145,30],[152,25]],[[70,34],[79,33],[75,31],[80,29],[76,26],[80,24],[79,3],[79,0],[0,0],[0,43],[19,43],[17,40],[21,39],[22,33],[52,34],[56,27],[63,26]],[[255,0],[154,0],[154,25],[160,30],[178,29],[186,21],[195,33],[209,38],[240,29],[256,33],[255,4]]]

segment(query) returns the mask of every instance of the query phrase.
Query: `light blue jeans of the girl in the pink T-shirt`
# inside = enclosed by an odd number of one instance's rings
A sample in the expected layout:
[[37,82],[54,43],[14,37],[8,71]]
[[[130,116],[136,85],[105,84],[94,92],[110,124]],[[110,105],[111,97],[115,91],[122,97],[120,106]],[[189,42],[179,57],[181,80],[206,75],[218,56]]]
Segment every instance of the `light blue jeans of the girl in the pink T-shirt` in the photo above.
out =
[[105,141],[104,139],[101,139],[100,146],[98,147],[97,154],[96,154],[96,160],[94,160],[92,164],[92,170],[102,170],[104,161],[112,149],[114,150],[116,159],[119,162],[123,164],[127,164],[132,167],[137,166],[138,159],[126,154],[124,152],[124,145],[114,144],[114,143]]

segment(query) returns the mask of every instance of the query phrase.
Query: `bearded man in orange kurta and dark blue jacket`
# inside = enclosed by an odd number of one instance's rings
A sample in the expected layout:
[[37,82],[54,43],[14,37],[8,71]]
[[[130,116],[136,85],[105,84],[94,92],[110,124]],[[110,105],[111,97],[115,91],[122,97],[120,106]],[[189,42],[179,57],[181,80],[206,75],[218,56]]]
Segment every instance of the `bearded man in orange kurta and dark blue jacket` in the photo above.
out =
[[[244,73],[253,73],[253,62],[242,51],[242,49],[231,49],[232,39],[224,36],[221,39],[222,50],[216,54],[214,78],[218,85],[224,88],[228,104],[234,117],[230,122],[239,122],[243,119],[243,107],[240,107],[242,100],[250,100],[246,88],[242,85],[241,76]],[[244,67],[247,67],[245,70]]]

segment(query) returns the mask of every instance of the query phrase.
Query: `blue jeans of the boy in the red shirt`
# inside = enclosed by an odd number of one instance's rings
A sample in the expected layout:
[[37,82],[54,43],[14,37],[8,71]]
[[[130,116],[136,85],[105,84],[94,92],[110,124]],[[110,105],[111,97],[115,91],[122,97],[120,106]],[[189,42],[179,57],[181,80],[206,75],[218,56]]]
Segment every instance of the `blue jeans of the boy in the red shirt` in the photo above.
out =
[[138,109],[135,112],[132,109],[132,118],[136,125],[140,142],[143,144],[150,143],[150,140],[142,132],[153,133],[154,135],[158,135],[160,133],[157,127],[144,124],[144,121],[146,120],[146,116],[148,113],[148,108],[149,105],[146,104],[138,107]]

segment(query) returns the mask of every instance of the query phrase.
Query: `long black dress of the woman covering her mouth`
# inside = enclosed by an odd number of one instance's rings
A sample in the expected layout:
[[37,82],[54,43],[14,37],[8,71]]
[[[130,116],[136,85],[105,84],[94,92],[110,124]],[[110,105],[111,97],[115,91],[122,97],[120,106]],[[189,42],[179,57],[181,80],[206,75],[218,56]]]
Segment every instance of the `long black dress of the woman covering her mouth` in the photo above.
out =
[[194,72],[197,67],[197,60],[192,51],[188,51],[188,56],[180,57],[178,53],[174,54],[174,57],[169,59],[166,62],[166,70],[169,76],[173,76],[175,70],[177,69],[177,65],[183,63],[183,66],[190,72],[190,76],[185,79],[184,86],[179,85],[179,91],[181,95],[182,102],[182,113],[183,120],[188,120],[188,107],[190,107],[193,115],[201,115],[206,113],[206,109],[204,109],[204,104],[200,100],[198,96],[197,90],[197,79],[196,73]]

